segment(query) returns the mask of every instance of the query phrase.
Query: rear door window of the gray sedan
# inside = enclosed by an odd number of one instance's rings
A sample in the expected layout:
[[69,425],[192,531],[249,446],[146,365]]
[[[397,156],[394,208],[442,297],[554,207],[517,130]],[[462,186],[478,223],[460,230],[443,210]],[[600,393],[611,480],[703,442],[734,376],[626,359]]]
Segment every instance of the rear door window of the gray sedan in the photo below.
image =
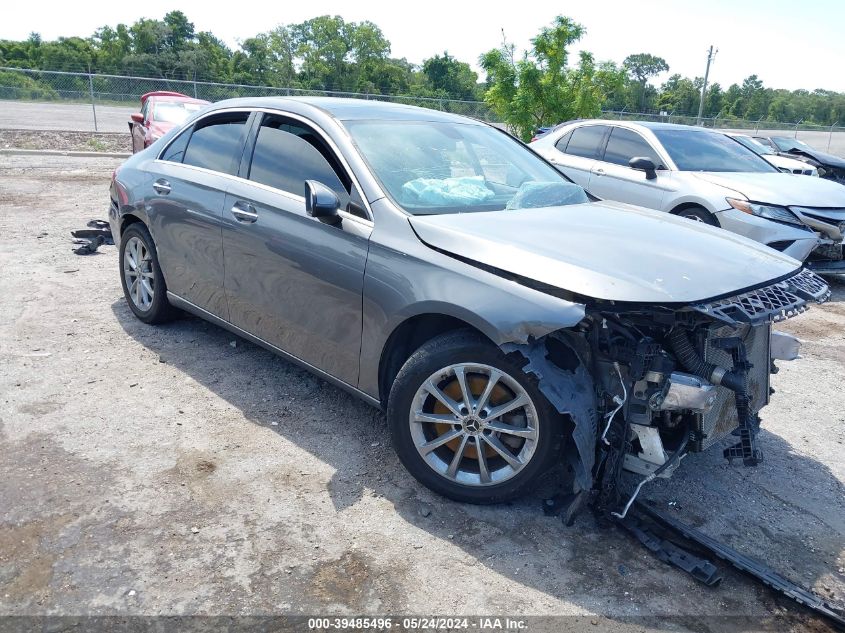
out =
[[248,118],[248,113],[239,112],[201,121],[191,134],[182,162],[224,174],[237,174]]

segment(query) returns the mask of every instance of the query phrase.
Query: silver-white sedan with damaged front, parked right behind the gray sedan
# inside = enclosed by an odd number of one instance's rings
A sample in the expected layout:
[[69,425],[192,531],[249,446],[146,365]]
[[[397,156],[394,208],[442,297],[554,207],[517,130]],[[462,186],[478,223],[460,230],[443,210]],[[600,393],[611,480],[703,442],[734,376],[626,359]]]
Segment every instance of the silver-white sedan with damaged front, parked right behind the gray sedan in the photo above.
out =
[[721,132],[586,120],[530,146],[598,198],[720,226],[818,272],[845,272],[845,187],[781,173]]

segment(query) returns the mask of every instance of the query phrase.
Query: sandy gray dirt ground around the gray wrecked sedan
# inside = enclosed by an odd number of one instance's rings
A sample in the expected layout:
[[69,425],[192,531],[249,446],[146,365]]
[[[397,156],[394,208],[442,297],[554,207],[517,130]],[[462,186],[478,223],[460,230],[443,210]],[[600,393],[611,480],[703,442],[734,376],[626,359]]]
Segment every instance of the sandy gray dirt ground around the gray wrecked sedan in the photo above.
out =
[[[0,161],[0,614],[827,629],[730,570],[696,584],[589,515],[566,528],[543,516],[547,490],[486,508],[434,496],[379,412],[195,318],[131,316],[115,248],[80,257],[68,233],[105,217],[117,161]],[[845,284],[833,288],[784,326],[807,344],[774,377],[766,461],[692,455],[645,496],[842,605]]]

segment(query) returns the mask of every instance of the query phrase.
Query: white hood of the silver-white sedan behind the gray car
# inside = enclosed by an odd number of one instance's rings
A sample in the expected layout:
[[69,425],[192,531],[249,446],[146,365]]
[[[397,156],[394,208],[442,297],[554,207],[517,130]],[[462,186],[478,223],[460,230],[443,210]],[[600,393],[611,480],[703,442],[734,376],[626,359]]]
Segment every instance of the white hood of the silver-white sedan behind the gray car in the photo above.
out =
[[[784,173],[695,172],[701,180],[735,191],[752,202],[781,206],[845,207],[845,187],[824,178]],[[725,192],[730,196],[731,192]]]

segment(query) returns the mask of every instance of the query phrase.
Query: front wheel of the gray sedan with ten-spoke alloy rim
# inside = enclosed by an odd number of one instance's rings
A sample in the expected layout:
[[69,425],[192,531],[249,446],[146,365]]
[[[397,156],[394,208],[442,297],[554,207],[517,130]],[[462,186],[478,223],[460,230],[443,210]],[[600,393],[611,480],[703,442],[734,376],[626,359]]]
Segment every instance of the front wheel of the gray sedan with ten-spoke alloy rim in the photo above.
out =
[[405,468],[455,501],[488,504],[524,495],[560,459],[563,419],[524,359],[475,332],[449,332],[406,361],[387,418]]

